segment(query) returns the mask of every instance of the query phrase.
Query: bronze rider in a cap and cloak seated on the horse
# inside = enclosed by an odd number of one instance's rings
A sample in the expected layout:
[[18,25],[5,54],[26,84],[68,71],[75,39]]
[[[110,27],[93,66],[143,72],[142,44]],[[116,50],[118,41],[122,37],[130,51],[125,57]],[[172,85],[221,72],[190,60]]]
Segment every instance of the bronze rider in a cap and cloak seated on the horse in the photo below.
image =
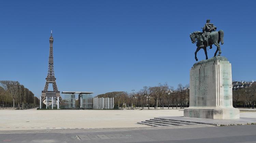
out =
[[200,36],[200,40],[201,40],[200,48],[204,47],[203,41],[206,40],[208,38],[209,34],[213,31],[215,31],[216,29],[217,28],[212,23],[210,23],[210,19],[207,19],[206,23],[204,24],[204,27],[203,27],[203,34],[202,34],[202,36]]

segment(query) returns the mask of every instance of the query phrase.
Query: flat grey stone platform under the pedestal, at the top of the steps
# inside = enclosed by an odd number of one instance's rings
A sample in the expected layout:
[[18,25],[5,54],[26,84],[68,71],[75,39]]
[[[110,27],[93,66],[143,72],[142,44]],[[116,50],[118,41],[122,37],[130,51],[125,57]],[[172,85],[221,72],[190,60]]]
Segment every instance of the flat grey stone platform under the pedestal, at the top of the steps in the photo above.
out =
[[166,119],[178,122],[188,122],[204,125],[245,125],[256,124],[256,118],[239,118],[239,119],[205,119],[205,118],[190,118],[190,117],[157,117],[156,119]]

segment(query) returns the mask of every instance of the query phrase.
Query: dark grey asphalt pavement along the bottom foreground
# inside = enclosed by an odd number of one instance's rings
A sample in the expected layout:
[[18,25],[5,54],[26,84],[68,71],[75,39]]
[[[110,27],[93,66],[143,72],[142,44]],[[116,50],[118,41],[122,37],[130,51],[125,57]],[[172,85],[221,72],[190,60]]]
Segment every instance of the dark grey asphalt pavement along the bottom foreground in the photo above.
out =
[[0,143],[255,143],[256,125],[149,130],[0,133]]

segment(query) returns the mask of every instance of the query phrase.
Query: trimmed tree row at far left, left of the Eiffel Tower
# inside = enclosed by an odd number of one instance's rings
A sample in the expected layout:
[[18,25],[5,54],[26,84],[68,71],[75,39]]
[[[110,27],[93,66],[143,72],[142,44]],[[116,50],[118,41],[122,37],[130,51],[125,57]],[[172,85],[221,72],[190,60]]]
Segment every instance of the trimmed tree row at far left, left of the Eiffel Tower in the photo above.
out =
[[0,107],[15,109],[38,107],[40,101],[33,92],[17,81],[0,81]]

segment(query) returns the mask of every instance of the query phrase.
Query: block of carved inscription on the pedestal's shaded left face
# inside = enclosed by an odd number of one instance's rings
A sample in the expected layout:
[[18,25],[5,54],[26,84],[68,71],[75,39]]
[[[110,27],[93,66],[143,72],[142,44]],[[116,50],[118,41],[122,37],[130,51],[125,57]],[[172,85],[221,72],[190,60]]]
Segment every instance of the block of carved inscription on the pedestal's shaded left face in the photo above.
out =
[[209,95],[209,76],[199,76],[195,78],[195,96]]

